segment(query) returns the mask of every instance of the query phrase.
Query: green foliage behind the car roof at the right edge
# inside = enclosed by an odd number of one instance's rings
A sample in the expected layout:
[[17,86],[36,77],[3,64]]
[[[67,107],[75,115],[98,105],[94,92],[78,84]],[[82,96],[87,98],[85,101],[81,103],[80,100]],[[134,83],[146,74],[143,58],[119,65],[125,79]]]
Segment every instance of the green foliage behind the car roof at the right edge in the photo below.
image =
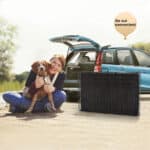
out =
[[132,47],[142,49],[146,52],[150,52],[150,42],[148,43],[138,42],[138,43],[132,44]]

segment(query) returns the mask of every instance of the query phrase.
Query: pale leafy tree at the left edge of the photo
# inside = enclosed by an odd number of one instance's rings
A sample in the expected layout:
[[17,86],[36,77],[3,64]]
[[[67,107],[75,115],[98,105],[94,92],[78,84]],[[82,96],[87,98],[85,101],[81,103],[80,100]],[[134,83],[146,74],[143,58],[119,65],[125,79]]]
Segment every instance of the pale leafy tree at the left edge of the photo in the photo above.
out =
[[17,28],[0,18],[0,81],[11,79],[12,56],[16,50]]

